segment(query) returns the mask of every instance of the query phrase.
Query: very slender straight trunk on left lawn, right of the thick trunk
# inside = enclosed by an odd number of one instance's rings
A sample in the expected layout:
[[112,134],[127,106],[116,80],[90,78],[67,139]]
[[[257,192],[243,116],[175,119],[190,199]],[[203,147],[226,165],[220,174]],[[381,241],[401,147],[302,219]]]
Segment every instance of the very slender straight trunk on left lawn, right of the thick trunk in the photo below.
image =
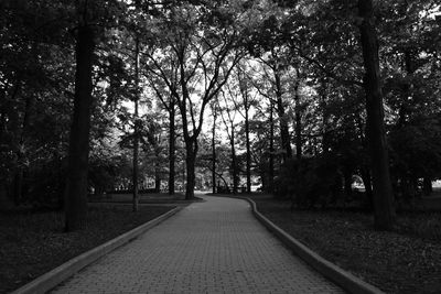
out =
[[138,211],[139,206],[139,193],[138,193],[138,178],[139,178],[139,121],[138,121],[138,105],[139,105],[139,37],[135,40],[135,123],[133,123],[133,171],[132,171],[132,184],[133,184],[133,199],[132,210]]

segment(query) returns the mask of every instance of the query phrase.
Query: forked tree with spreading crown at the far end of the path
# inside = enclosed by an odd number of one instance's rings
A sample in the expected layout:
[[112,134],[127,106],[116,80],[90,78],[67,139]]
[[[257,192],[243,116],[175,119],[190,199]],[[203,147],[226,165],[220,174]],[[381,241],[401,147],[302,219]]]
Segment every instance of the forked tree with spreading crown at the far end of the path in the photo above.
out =
[[[169,17],[157,23],[154,37],[163,46],[143,52],[149,75],[164,81],[180,109],[186,150],[186,199],[194,197],[197,138],[206,106],[241,57],[237,50],[239,32],[232,22],[237,12],[228,6],[225,10],[205,6],[204,10],[195,4],[171,9]],[[195,83],[201,86],[195,88]]]

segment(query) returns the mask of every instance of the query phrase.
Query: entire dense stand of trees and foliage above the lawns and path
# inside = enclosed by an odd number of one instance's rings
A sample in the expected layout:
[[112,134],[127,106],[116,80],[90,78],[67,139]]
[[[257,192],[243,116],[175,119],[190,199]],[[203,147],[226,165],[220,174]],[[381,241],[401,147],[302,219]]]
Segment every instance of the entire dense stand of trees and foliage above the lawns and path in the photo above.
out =
[[258,184],[311,207],[354,176],[390,229],[441,176],[438,1],[0,8],[0,198],[72,229],[93,190]]

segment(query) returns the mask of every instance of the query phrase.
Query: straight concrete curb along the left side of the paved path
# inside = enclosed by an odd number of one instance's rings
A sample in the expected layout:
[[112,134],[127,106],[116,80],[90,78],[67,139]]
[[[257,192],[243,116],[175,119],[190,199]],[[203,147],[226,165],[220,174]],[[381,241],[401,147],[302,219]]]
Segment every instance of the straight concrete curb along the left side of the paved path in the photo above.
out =
[[117,238],[107,241],[104,244],[100,244],[89,251],[86,251],[78,257],[71,259],[69,261],[63,263],[62,265],[53,269],[52,271],[36,277],[35,280],[29,282],[28,284],[21,286],[20,288],[11,292],[11,294],[39,294],[45,293],[51,288],[55,287],[57,284],[66,280],[67,277],[72,276],[86,265],[93,263],[97,259],[104,257],[105,254],[114,251],[118,247],[121,247],[129,241],[133,240],[141,233],[146,232],[147,230],[151,229],[152,227],[159,225],[163,220],[168,219],[169,217],[173,216],[178,211],[180,211],[182,207],[175,207],[165,214],[128,231],[125,232]]

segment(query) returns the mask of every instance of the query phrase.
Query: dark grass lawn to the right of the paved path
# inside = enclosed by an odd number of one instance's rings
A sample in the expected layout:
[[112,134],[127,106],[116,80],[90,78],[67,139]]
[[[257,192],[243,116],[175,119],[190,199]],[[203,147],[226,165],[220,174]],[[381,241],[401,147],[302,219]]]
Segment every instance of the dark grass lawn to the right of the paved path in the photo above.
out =
[[250,196],[267,218],[323,258],[386,293],[441,293],[441,213],[398,216],[394,232],[344,210],[290,210],[290,203]]

